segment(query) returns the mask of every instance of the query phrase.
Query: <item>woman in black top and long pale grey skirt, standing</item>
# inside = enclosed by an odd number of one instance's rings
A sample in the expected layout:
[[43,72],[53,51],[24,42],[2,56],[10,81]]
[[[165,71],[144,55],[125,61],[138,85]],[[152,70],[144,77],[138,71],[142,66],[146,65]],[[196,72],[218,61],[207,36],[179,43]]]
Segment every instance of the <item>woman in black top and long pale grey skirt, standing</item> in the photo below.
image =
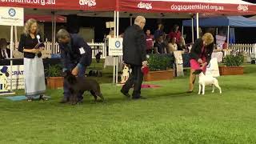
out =
[[41,58],[44,46],[35,48],[39,42],[42,42],[38,31],[36,20],[29,19],[25,24],[18,46],[18,51],[24,53],[25,93],[28,102],[38,95],[40,99],[47,100],[44,97],[46,83]]

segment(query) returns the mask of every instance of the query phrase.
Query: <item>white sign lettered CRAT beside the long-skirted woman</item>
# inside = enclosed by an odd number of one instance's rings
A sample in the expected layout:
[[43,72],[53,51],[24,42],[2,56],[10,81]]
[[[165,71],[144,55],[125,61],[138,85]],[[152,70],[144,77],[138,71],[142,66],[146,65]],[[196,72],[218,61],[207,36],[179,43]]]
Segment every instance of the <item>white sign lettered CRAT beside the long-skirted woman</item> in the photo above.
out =
[[[24,66],[14,65],[12,74],[13,90],[24,89]],[[10,90],[10,66],[0,66],[0,91]]]

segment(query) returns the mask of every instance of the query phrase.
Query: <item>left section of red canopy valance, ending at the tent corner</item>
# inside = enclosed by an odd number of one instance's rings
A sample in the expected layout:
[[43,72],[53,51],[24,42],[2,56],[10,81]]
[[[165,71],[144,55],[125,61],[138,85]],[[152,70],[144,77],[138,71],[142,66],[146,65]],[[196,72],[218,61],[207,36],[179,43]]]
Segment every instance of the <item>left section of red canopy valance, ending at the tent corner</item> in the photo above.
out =
[[0,0],[0,6],[50,10],[114,11],[115,0]]

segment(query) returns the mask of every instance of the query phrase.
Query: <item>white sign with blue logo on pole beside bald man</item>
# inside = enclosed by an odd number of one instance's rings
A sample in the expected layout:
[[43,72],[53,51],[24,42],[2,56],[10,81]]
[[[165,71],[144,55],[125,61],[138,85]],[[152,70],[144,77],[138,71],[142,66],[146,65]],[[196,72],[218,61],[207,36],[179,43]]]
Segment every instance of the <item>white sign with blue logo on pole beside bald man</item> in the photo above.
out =
[[120,56],[122,55],[122,38],[110,38],[109,40],[109,55]]

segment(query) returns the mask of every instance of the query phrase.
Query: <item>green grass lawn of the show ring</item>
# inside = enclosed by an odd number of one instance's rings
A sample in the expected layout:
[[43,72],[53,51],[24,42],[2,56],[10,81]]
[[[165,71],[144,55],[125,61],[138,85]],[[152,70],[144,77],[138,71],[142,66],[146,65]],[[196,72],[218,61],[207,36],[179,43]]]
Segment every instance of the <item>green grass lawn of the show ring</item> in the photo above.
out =
[[0,143],[255,143],[256,65],[245,70],[218,78],[222,94],[186,94],[185,77],[150,82],[162,87],[143,89],[146,100],[104,82],[106,103],[86,93],[81,105],[60,104],[62,90],[47,90],[48,102],[0,98]]

